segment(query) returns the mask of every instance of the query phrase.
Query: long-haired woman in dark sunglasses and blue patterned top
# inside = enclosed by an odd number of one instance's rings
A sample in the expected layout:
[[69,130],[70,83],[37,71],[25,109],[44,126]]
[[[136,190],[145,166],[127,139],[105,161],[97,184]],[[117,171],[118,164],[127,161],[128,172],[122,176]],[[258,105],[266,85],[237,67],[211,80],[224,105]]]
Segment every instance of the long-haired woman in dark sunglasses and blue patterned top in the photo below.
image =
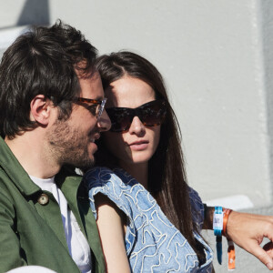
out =
[[112,128],[96,160],[111,171],[97,167],[85,179],[108,271],[210,272],[212,251],[199,235],[204,207],[187,186],[161,75],[130,52],[102,56],[97,68]]

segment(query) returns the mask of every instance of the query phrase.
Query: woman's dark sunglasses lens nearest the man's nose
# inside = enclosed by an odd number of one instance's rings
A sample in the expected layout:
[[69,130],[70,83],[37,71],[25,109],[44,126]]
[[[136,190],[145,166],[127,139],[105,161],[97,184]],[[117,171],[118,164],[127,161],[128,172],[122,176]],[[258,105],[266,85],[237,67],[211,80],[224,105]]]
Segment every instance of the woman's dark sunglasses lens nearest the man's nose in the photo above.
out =
[[129,129],[132,122],[132,115],[127,108],[108,108],[106,109],[108,116],[110,117],[112,126],[112,132],[122,132]]

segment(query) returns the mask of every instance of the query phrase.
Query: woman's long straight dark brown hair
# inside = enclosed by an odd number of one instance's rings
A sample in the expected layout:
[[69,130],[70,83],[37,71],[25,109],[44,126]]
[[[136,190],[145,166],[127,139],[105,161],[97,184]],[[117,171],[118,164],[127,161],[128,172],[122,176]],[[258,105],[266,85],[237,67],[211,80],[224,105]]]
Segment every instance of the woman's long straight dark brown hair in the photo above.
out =
[[[167,218],[187,238],[189,244],[199,252],[193,236],[193,231],[198,231],[191,216],[187,176],[180,144],[180,128],[177,117],[169,105],[162,76],[147,59],[127,51],[100,56],[96,67],[101,75],[104,88],[123,76],[132,76],[151,86],[155,90],[156,98],[166,100],[166,120],[161,125],[157,151],[148,163],[148,189],[156,198]],[[96,155],[96,163],[101,166],[113,167],[106,162],[106,157],[100,156],[100,153],[105,153],[106,149],[103,140],[100,146]],[[115,155],[111,155],[111,157],[113,156]]]

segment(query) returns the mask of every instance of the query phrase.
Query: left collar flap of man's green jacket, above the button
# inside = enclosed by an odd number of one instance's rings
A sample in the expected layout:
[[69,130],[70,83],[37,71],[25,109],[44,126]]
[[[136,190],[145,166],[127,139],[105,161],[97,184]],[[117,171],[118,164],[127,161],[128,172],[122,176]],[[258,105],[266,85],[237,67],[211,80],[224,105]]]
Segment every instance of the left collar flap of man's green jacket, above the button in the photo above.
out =
[[11,149],[6,145],[4,139],[0,136],[0,167],[4,169],[6,175],[10,177],[15,186],[20,190],[22,195],[31,196],[40,187],[35,183],[25,172],[24,167],[21,166]]

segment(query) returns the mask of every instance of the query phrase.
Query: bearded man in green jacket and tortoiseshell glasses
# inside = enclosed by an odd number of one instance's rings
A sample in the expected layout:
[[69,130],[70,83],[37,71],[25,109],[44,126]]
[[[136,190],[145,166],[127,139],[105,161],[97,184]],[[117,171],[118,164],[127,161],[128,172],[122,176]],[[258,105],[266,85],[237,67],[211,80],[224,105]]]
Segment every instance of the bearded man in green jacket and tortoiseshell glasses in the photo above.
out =
[[[0,272],[105,272],[86,190],[108,130],[96,48],[57,22],[19,36],[0,66]],[[74,167],[69,167],[74,166]],[[91,250],[90,250],[91,248]]]

